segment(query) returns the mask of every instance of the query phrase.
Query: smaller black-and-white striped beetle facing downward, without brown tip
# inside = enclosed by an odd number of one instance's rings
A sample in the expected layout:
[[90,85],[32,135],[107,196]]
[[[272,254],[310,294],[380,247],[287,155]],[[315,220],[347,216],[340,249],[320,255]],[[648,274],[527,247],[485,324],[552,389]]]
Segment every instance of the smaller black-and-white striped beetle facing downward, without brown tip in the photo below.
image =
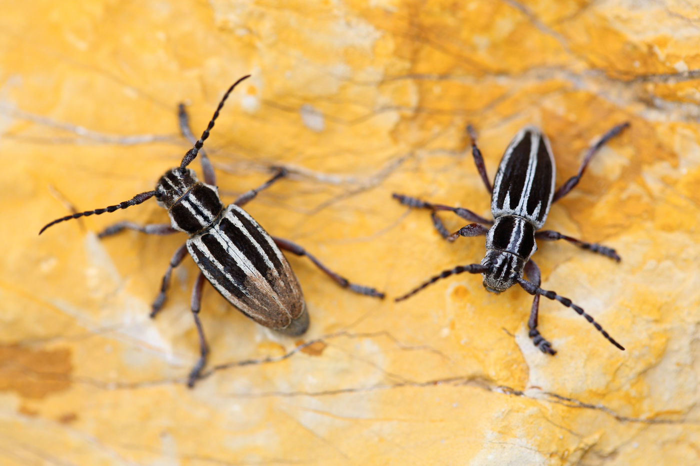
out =
[[[605,255],[619,262],[619,255],[614,249],[601,246],[596,243],[587,243],[580,239],[566,236],[552,230],[540,230],[547,220],[549,206],[566,196],[570,190],[580,181],[583,172],[586,170],[591,158],[610,139],[617,136],[622,130],[629,126],[629,123],[622,123],[610,129],[601,139],[589,148],[578,173],[564,183],[561,188],[554,190],[555,165],[552,156],[552,148],[549,147],[549,140],[545,134],[535,128],[526,127],[515,135],[510,145],[500,160],[496,178],[493,179],[493,188],[486,175],[486,165],[481,151],[477,147],[477,138],[474,129],[467,127],[471,143],[472,157],[479,171],[486,190],[491,194],[491,213],[494,220],[488,220],[476,213],[461,207],[450,207],[442,204],[431,204],[414,197],[394,194],[401,204],[409,207],[430,209],[433,225],[447,241],[454,241],[459,236],[481,236],[486,235],[486,256],[480,264],[469,264],[454,267],[454,269],[444,270],[441,274],[433,276],[428,281],[407,292],[395,301],[402,301],[414,295],[431,283],[435,283],[440,278],[450,275],[468,272],[470,274],[482,274],[484,278],[484,288],[486,290],[499,293],[518,283],[526,292],[534,295],[530,318],[528,319],[529,337],[533,344],[540,348],[545,354],[554,355],[556,351],[537,330],[538,309],[540,306],[540,295],[549,299],[555,299],[564,306],[570,307],[580,316],[589,321],[603,337],[610,343],[624,351],[622,345],[610,337],[608,332],[603,330],[591,316],[584,312],[570,299],[557,295],[554,291],[542,290],[540,288],[540,269],[531,260],[531,256],[537,250],[535,239],[554,241],[563,239],[569,243],[583,249],[591,250],[594,253]],[[437,211],[451,211],[457,216],[469,220],[469,225],[462,227],[453,234],[449,234],[442,224],[442,220],[437,217]],[[490,228],[484,225],[491,225]],[[538,231],[539,230],[539,231]],[[525,272],[530,278],[527,281],[523,278]]]

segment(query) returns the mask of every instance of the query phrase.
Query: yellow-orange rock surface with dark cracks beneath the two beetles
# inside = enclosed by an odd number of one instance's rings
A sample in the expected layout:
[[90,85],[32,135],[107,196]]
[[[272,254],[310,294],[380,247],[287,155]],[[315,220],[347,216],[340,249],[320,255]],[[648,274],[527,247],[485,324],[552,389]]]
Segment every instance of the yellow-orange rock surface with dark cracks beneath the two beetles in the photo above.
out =
[[[4,1],[0,17],[0,463],[3,465],[700,464],[700,10],[689,1]],[[616,264],[540,243],[542,286],[626,346],[542,302],[451,277],[406,302],[353,295],[290,257],[311,313],[301,340],[210,287],[206,379],[189,311],[196,267],[149,201],[38,230],[151,190],[246,73],[207,148],[223,199],[271,167],[246,209],[272,234],[393,297],[481,260],[442,241],[403,192],[489,214],[517,130],[549,134],[563,183],[622,121],[547,228]],[[199,169],[199,165],[193,165]],[[464,225],[444,215],[449,230]],[[300,346],[304,344],[309,346]]]

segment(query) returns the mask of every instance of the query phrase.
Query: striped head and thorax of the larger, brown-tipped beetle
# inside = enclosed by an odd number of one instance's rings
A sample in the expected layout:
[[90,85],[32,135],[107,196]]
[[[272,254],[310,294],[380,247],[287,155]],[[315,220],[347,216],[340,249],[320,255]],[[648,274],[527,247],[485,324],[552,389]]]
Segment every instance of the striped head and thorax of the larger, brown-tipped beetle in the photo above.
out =
[[198,181],[194,171],[180,167],[160,177],[155,199],[168,209],[172,227],[190,234],[206,230],[224,208],[216,186]]

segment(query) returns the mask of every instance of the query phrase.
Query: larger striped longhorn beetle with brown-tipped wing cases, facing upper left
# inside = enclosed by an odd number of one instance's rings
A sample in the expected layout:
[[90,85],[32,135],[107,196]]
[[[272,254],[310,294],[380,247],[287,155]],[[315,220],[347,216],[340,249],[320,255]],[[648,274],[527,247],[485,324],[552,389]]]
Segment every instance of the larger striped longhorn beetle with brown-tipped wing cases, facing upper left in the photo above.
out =
[[[209,283],[228,302],[236,306],[246,316],[260,325],[290,336],[306,332],[309,327],[309,314],[297,278],[280,249],[295,255],[309,257],[309,260],[314,262],[316,267],[328,274],[343,288],[349,288],[360,295],[384,297],[384,293],[374,288],[356,285],[336,274],[292,241],[270,236],[246,211],[241,209],[241,206],[258,195],[258,192],[269,188],[272,183],[285,176],[284,169],[279,170],[258,188],[244,192],[230,206],[226,207],[221,202],[216,187],[214,169],[211,167],[206,153],[202,150],[202,146],[209,137],[209,132],[214,127],[214,121],[218,118],[229,94],[248,77],[240,78],[229,87],[219,102],[214,116],[209,121],[207,129],[196,142],[190,131],[185,108],[182,104],[179,106],[181,132],[195,146],[188,150],[179,167],[169,169],[160,177],[155,185],[155,190],[142,192],[116,206],[58,218],[45,225],[39,232],[41,234],[51,225],[71,218],[91,216],[92,214],[99,215],[136,206],[151,197],[155,197],[158,205],[167,209],[170,225],[137,225],[125,221],[107,227],[98,236],[104,238],[123,230],[137,230],[148,234],[186,232],[190,235],[186,243],[178,248],[172,256],[162,278],[160,293],[151,305],[151,317],[155,317],[165,302],[173,269],[182,262],[186,253],[189,252],[200,267],[200,273],[197,275],[192,291],[191,302],[197,334],[200,339],[200,358],[190,372],[188,379],[190,387],[194,386],[195,381],[199,378],[209,353],[209,345],[204,337],[199,316],[204,278],[207,278]],[[188,164],[195,160],[197,153],[201,154],[200,161],[204,183],[197,181],[195,172],[187,168]]]

